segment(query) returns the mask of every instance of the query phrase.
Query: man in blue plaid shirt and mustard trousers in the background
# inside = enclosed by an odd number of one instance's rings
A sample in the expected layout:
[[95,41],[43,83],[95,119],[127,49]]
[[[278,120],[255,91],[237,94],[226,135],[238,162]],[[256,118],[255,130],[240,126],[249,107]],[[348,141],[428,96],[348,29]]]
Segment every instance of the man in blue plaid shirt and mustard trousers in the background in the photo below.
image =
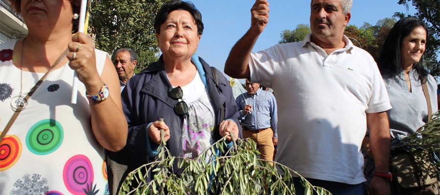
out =
[[260,83],[250,83],[246,79],[246,90],[247,93],[235,99],[240,111],[243,138],[257,143],[261,159],[273,161],[278,144],[277,102],[272,93],[260,89]]

